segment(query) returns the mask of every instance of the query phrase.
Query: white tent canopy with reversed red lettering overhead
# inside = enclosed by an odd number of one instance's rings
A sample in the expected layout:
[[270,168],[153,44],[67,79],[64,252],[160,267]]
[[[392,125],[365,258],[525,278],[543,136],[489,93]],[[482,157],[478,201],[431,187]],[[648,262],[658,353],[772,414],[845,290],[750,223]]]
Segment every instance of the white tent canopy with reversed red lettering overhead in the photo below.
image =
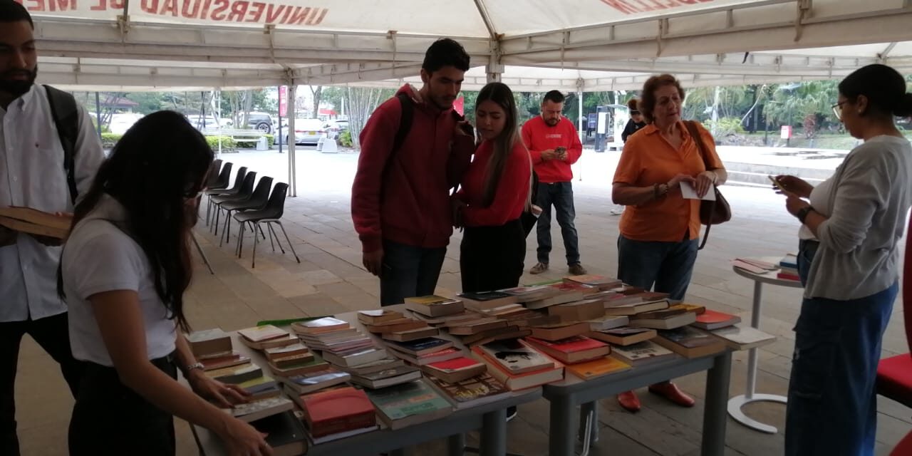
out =
[[[17,0],[19,1],[19,0]],[[451,36],[467,89],[639,88],[912,72],[910,0],[21,0],[42,82],[82,90],[395,86]]]

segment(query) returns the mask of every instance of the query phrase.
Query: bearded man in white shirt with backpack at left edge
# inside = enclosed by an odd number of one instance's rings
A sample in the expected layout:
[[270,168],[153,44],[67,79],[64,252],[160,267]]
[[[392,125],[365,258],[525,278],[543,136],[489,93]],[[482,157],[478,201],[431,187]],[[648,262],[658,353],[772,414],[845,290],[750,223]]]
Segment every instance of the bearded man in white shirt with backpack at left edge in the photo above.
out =
[[[35,84],[34,24],[26,9],[0,0],[0,207],[73,211],[64,149],[47,89]],[[72,175],[88,192],[104,158],[88,112],[78,108]],[[60,364],[71,391],[79,369],[70,351],[67,306],[57,295],[60,247],[0,227],[0,454],[18,455],[15,383],[19,344],[30,335]],[[58,243],[57,243],[58,244]]]

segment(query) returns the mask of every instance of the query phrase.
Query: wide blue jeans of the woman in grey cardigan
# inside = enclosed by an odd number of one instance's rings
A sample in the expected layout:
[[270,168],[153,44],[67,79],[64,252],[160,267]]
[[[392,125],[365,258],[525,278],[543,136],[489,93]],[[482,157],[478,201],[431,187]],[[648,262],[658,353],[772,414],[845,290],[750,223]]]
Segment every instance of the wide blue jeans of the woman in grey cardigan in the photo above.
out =
[[805,298],[785,411],[785,454],[874,454],[875,381],[898,283],[849,301]]

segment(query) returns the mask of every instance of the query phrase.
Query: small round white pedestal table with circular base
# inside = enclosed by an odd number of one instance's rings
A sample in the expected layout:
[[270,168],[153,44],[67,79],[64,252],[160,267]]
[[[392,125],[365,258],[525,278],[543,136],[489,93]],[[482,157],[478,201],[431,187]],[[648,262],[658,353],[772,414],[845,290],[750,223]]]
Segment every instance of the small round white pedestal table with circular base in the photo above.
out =
[[[777,257],[764,257],[759,259],[772,264],[779,264],[779,261],[781,260],[781,258]],[[751,326],[757,329],[760,329],[760,308],[762,306],[763,284],[802,288],[801,282],[776,277],[776,275],[779,273],[779,270],[769,271],[763,274],[755,274],[751,273],[750,271],[741,269],[737,266],[732,266],[732,269],[734,270],[735,274],[741,275],[742,277],[747,277],[753,281],[753,308],[751,310]],[[756,393],[754,391],[756,384],[757,348],[754,347],[748,350],[747,392],[729,399],[729,415],[731,415],[731,418],[740,422],[744,426],[747,426],[748,428],[751,428],[753,430],[760,430],[761,432],[766,432],[769,434],[775,434],[778,431],[775,426],[770,426],[769,424],[764,424],[760,421],[751,419],[744,414],[741,408],[744,407],[745,404],[759,401],[780,402],[784,404],[786,403],[787,399],[784,396],[779,396],[777,394]]]

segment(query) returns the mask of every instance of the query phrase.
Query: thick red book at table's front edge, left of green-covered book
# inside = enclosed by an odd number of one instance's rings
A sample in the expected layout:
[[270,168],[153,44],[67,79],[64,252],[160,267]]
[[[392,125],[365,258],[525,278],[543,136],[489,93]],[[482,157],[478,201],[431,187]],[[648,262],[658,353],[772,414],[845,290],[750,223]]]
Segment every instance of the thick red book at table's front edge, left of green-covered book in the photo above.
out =
[[374,405],[362,389],[319,391],[301,396],[301,403],[314,437],[376,424]]

